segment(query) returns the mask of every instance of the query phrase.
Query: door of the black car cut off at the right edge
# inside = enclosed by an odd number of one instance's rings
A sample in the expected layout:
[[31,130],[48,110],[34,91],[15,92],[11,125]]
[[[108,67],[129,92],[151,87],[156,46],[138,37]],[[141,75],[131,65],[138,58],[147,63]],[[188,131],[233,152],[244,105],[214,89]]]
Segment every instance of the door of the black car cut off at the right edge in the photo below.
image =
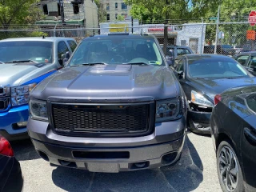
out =
[[246,98],[247,106],[252,114],[244,118],[241,133],[241,156],[246,187],[248,191],[256,191],[256,94]]

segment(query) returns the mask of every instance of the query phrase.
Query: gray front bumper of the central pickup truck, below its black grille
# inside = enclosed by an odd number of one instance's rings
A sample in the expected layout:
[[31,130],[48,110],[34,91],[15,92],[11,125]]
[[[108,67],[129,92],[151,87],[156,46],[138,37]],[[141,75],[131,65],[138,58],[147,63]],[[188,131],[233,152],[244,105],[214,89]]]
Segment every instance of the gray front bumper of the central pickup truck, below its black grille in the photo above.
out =
[[[58,166],[117,173],[177,162],[185,140],[186,118],[156,123],[153,134],[134,138],[67,137],[54,134],[49,127],[48,122],[29,120],[31,140],[42,158]],[[113,157],[124,153],[125,157]]]

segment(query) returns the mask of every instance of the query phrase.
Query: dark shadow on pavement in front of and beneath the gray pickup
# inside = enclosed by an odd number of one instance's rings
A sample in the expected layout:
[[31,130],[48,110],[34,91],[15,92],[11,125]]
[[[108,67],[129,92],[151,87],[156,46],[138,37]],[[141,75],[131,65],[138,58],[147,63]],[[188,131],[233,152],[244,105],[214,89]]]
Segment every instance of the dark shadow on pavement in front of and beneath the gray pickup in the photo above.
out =
[[186,137],[182,158],[174,166],[118,174],[56,167],[52,179],[56,186],[70,192],[191,191],[202,182],[202,170],[197,150]]

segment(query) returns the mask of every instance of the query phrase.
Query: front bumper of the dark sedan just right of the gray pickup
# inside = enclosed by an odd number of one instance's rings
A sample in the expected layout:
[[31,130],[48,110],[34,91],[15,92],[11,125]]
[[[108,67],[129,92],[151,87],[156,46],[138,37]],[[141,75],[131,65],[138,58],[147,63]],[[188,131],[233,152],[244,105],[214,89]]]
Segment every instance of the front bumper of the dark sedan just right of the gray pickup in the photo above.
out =
[[189,129],[197,134],[210,134],[210,115],[209,112],[188,110]]

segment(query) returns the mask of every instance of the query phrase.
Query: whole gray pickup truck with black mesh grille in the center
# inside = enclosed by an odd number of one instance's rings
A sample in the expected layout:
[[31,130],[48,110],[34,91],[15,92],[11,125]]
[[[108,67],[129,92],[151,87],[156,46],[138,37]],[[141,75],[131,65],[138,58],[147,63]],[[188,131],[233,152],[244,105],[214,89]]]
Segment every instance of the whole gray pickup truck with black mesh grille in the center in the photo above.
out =
[[150,35],[85,38],[30,94],[28,131],[52,164],[119,172],[177,162],[186,98]]

